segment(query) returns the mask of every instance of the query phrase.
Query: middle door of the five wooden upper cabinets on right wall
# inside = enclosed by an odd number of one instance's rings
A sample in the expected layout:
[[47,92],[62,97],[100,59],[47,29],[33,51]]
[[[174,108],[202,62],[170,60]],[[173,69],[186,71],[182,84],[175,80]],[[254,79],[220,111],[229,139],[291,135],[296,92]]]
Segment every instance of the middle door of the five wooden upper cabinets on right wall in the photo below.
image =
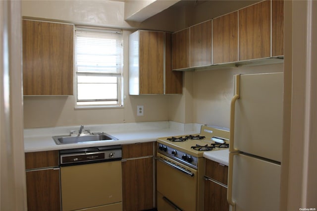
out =
[[214,64],[238,61],[238,12],[213,19],[212,37]]

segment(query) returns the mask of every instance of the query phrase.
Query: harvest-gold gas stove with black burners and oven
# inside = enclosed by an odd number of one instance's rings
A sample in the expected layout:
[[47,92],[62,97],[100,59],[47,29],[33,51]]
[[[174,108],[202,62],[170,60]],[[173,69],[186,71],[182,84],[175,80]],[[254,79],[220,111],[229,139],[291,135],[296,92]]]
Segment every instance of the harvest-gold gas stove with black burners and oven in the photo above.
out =
[[159,138],[158,210],[202,211],[205,170],[203,154],[228,147],[229,131],[210,126],[202,126],[199,134]]

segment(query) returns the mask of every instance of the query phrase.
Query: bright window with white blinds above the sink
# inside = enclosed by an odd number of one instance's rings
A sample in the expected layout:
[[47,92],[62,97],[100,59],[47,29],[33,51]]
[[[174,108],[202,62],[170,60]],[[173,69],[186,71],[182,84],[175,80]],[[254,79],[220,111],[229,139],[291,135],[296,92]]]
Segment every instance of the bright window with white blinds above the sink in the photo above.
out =
[[75,107],[123,106],[122,31],[76,28]]

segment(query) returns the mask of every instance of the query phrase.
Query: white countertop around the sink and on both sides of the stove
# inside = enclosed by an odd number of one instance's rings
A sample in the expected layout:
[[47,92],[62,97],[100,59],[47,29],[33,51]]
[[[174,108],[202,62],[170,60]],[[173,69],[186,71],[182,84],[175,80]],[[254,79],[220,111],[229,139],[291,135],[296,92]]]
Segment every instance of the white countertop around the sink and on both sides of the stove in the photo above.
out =
[[[90,129],[92,132],[105,132],[116,137],[118,140],[64,145],[55,144],[52,136],[67,135],[70,130],[79,129],[79,126],[25,129],[24,152],[28,153],[151,142],[156,141],[157,138],[160,137],[197,134],[200,131],[200,126],[201,124],[182,124],[171,121],[87,125],[84,129]],[[225,165],[228,165],[228,155],[228,150],[218,150],[204,153],[205,158]]]

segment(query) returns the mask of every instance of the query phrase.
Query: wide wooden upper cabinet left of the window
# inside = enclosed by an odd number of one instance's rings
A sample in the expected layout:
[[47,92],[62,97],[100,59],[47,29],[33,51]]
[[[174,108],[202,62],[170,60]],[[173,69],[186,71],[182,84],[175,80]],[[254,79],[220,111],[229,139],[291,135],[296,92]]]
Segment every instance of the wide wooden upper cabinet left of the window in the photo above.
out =
[[73,24],[23,20],[24,95],[73,95]]

